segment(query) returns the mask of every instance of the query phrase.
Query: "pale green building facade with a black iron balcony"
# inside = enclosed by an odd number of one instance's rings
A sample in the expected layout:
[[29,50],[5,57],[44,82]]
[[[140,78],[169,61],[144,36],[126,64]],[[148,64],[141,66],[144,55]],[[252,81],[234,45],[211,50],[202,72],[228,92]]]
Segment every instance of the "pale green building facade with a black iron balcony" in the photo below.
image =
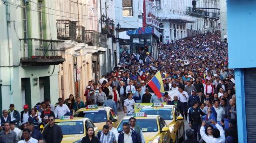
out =
[[[45,8],[45,7],[48,7]],[[0,2],[0,111],[15,104],[22,110],[45,98],[59,97],[59,64],[65,61],[64,41],[57,40],[53,1]]]

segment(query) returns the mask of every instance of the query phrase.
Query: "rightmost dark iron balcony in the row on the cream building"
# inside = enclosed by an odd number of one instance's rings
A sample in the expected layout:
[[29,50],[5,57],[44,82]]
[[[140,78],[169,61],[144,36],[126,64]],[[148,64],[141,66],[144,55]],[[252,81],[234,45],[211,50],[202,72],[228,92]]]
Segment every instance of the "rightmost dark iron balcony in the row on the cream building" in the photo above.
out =
[[92,46],[107,47],[107,37],[105,34],[94,30],[85,30],[85,43]]

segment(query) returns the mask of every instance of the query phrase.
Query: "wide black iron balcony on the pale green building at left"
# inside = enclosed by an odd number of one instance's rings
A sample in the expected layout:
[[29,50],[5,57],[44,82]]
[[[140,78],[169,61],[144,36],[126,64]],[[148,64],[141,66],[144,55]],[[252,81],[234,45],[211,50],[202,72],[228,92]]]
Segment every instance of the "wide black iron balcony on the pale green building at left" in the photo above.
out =
[[25,66],[59,65],[65,61],[62,40],[20,39],[20,49],[20,62]]

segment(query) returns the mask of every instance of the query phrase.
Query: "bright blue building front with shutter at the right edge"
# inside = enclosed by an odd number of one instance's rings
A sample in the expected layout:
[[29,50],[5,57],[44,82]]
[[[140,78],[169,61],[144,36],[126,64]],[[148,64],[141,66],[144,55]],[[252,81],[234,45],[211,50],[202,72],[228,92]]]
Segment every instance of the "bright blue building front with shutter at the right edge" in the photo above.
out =
[[[239,143],[255,143],[256,141],[255,7],[256,1],[254,0],[227,0],[229,68],[235,69]],[[239,30],[237,27],[243,27],[243,29]]]

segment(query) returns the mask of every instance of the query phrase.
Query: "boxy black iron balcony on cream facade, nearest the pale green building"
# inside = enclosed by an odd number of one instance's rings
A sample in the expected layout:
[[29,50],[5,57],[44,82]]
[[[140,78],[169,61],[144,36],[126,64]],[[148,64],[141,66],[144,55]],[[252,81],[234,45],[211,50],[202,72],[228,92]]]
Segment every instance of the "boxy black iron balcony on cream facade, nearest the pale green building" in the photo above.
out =
[[70,20],[57,20],[56,25],[58,39],[76,41],[76,22]]

